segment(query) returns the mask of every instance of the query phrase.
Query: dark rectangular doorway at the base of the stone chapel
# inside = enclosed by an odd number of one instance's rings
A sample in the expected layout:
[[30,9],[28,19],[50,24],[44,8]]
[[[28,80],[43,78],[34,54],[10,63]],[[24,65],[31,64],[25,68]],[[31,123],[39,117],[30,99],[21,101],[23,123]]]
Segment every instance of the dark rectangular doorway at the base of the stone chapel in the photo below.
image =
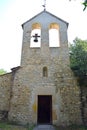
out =
[[38,123],[52,123],[52,96],[38,95]]

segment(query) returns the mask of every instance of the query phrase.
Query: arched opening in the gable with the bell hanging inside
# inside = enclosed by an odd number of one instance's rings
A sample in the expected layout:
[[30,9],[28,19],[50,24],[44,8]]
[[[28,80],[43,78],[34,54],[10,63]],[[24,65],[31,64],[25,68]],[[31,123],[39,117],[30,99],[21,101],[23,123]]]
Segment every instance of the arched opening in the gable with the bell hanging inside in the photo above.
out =
[[41,46],[41,25],[39,23],[34,23],[32,25],[30,47],[40,47],[40,46]]

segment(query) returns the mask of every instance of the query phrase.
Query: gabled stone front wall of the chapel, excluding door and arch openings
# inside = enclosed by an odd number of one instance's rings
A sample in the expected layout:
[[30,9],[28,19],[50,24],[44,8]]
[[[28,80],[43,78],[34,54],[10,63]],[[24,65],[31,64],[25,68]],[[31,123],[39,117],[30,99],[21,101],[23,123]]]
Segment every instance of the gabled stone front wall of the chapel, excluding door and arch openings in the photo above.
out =
[[[39,48],[30,47],[34,23],[41,25]],[[49,47],[51,23],[59,26],[60,47]],[[9,120],[37,124],[38,95],[51,95],[53,124],[81,124],[80,90],[69,66],[67,23],[44,11],[23,29],[21,67],[14,75]],[[43,76],[44,67],[47,77]]]

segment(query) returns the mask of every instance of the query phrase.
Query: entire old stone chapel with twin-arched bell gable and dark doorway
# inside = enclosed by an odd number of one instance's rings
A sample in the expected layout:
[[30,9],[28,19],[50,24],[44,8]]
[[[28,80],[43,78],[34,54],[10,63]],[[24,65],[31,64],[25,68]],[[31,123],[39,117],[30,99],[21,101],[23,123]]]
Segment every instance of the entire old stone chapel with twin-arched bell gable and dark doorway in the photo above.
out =
[[44,10],[22,28],[21,64],[0,76],[0,119],[82,124],[80,89],[69,65],[68,23]]

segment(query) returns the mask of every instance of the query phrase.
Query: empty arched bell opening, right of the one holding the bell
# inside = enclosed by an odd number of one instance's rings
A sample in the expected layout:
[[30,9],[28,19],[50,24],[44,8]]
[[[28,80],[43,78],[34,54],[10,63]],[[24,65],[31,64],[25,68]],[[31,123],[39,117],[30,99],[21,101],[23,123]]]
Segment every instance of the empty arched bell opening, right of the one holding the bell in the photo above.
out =
[[59,25],[51,23],[49,27],[49,47],[60,47]]

